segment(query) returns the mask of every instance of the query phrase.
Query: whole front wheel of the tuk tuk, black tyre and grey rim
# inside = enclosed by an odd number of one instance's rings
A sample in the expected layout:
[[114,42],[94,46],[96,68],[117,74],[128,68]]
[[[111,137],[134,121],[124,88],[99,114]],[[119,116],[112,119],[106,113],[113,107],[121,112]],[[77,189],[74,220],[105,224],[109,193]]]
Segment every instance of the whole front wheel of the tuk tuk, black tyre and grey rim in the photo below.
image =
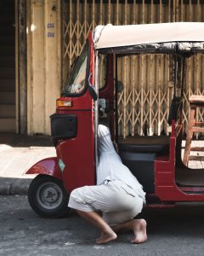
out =
[[59,179],[38,175],[28,189],[28,201],[33,211],[40,216],[59,218],[68,210],[69,195]]

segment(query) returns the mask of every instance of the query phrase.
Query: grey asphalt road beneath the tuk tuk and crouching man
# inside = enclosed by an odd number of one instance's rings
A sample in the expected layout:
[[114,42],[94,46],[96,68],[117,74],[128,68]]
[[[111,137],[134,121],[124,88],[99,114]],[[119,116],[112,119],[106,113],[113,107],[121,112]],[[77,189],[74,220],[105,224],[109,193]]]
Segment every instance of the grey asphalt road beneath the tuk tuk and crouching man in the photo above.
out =
[[71,212],[66,218],[38,217],[25,195],[0,196],[0,255],[204,255],[204,204],[144,209],[148,241],[133,245],[131,233],[107,245],[91,224]]

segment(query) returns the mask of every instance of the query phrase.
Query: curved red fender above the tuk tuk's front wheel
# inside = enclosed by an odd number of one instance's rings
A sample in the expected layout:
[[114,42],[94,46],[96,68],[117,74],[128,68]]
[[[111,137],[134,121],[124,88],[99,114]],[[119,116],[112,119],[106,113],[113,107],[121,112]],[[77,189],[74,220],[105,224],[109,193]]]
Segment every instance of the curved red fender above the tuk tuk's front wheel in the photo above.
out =
[[45,174],[57,177],[62,180],[62,174],[59,169],[58,160],[56,157],[49,157],[37,162],[26,172],[26,174]]

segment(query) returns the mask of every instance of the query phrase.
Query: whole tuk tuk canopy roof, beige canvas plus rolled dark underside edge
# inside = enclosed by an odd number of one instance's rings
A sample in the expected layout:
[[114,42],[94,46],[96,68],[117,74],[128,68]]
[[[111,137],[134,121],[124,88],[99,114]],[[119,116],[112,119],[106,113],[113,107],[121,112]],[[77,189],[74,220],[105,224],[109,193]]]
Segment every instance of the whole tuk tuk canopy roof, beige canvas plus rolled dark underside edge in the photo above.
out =
[[181,51],[204,52],[204,22],[96,26],[93,41],[102,52],[172,52],[176,44]]

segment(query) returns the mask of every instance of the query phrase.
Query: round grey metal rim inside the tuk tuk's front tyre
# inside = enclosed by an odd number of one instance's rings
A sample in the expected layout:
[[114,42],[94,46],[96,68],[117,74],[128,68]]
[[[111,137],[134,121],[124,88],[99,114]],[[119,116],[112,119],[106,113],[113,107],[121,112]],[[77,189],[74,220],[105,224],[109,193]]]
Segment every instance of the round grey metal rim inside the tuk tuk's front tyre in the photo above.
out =
[[56,183],[42,183],[37,189],[37,202],[47,210],[54,210],[59,207],[62,200],[62,189]]

